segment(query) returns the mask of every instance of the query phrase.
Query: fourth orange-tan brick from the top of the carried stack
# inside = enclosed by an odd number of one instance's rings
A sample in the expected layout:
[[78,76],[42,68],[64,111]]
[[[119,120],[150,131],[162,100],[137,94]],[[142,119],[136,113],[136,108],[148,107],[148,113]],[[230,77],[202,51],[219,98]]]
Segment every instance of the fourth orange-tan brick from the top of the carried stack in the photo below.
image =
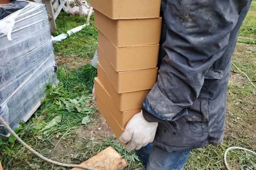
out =
[[108,78],[116,89],[116,92],[126,93],[152,89],[156,83],[157,68],[116,72],[102,50],[98,50],[99,65],[108,75]]

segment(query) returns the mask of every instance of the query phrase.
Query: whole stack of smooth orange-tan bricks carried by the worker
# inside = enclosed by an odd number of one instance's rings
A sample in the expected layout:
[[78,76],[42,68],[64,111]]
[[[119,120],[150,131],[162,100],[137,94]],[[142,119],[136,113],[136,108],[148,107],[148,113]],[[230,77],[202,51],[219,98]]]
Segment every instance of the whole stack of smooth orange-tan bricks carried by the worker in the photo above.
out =
[[99,32],[96,103],[117,138],[157,80],[160,0],[91,0]]

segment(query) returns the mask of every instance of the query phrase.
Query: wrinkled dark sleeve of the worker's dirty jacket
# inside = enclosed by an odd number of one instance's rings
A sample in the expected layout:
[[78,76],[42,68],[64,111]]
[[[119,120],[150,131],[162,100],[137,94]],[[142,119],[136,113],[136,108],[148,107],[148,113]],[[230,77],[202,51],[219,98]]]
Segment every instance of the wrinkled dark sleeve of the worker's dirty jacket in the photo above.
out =
[[[223,55],[239,14],[250,0],[167,0],[167,25],[157,83],[142,108],[149,122],[175,121],[188,114],[207,72]],[[210,68],[211,67],[211,68]]]

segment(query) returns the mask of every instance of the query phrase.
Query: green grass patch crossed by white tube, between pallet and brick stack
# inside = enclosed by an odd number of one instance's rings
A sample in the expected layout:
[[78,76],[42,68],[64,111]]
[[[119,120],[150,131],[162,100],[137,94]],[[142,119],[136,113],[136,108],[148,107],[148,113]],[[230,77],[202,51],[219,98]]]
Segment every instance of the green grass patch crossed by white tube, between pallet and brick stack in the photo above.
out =
[[[66,33],[68,30],[86,23],[87,17],[70,16],[61,12],[56,20],[57,35]],[[92,58],[98,46],[98,31],[94,26],[93,15],[90,18],[90,25],[86,26],[76,34],[54,45],[54,52],[64,55],[79,55],[84,58]]]

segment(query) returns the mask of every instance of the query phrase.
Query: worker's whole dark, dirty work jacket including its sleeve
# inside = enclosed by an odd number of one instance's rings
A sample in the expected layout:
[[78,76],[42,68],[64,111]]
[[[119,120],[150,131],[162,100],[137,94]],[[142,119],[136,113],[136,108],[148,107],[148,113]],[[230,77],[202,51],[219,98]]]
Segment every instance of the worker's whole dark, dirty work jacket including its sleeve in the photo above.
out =
[[180,152],[222,141],[231,56],[250,3],[162,0],[160,69],[142,106],[159,122],[154,146]]

